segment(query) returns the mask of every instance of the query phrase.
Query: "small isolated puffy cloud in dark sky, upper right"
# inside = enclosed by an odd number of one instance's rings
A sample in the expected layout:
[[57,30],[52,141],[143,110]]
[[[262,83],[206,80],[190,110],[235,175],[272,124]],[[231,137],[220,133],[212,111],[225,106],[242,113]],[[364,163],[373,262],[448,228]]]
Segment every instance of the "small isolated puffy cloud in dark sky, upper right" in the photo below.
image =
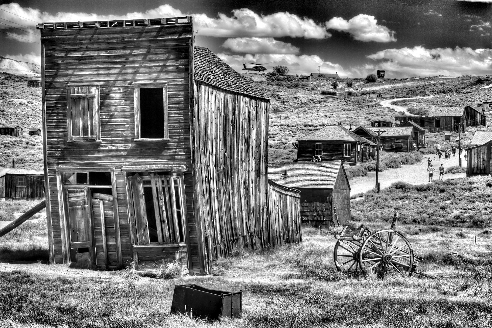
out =
[[328,29],[350,33],[355,40],[369,42],[391,42],[396,41],[395,31],[385,26],[377,25],[374,16],[359,14],[348,21],[341,17],[334,17],[326,22]]

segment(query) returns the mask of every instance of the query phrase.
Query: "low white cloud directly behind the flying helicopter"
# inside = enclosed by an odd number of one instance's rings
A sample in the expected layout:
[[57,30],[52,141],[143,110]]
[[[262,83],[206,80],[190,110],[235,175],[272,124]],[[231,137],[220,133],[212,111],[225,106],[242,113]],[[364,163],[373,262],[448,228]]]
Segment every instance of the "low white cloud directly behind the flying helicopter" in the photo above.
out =
[[[336,73],[341,77],[346,77],[349,72],[345,71],[339,64],[322,60],[316,55],[293,55],[293,54],[246,54],[246,55],[227,55],[217,54],[217,56],[228,63],[232,68],[241,72],[243,63],[246,62],[272,62],[267,68],[270,69],[277,65],[289,67],[289,74],[309,74],[317,72],[321,66],[322,73]],[[246,71],[243,71],[246,72]],[[351,74],[351,73],[350,73]]]

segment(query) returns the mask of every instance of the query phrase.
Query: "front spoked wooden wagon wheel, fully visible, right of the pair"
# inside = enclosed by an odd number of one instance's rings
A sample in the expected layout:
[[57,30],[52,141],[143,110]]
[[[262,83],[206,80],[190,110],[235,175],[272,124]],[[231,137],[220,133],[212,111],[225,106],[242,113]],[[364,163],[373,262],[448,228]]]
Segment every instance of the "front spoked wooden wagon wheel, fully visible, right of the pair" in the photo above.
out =
[[392,229],[370,234],[359,255],[359,265],[365,273],[374,272],[383,278],[386,274],[410,274],[413,260],[410,242]]

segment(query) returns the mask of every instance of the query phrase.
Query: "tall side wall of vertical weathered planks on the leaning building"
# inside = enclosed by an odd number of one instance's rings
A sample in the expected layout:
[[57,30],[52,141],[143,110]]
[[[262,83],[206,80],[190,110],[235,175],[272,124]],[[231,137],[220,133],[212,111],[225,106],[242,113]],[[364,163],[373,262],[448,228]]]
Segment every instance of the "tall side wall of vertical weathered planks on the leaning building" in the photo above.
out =
[[265,231],[270,103],[198,81],[194,96],[194,209],[200,270],[210,272],[234,248],[273,243]]

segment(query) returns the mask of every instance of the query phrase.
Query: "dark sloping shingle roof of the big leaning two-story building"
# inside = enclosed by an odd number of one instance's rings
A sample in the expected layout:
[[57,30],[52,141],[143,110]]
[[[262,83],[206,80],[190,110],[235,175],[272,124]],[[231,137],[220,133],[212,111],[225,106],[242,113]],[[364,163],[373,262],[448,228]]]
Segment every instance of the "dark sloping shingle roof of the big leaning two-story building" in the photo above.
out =
[[209,49],[195,46],[194,55],[195,80],[220,89],[270,100],[253,82],[242,77]]

